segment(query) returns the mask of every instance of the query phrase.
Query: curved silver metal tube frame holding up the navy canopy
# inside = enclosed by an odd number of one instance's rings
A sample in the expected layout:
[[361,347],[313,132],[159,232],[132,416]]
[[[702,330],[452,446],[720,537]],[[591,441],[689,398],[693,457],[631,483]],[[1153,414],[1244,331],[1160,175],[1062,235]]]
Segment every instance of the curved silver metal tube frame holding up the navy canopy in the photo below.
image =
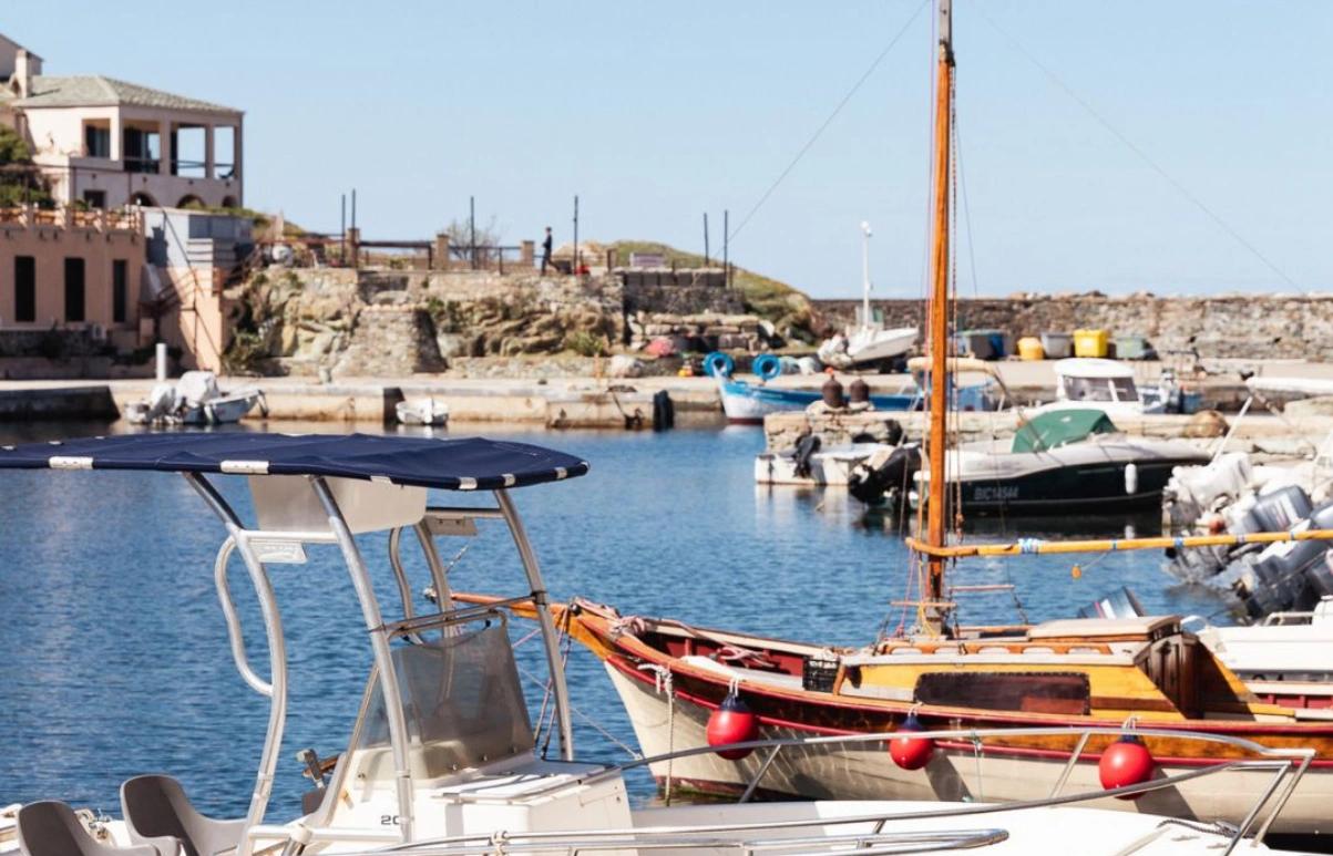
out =
[[[213,487],[213,485],[204,478],[204,475],[199,473],[183,473],[183,475],[227,527],[228,536],[219,548],[213,575],[217,586],[219,600],[223,607],[223,615],[227,619],[232,658],[236,662],[236,668],[240,671],[245,683],[249,684],[256,692],[268,696],[271,700],[268,731],[264,738],[264,751],[260,756],[259,772],[255,779],[255,793],[251,797],[249,811],[247,812],[247,825],[255,828],[264,821],[264,812],[268,808],[268,801],[273,791],[273,773],[277,768],[279,751],[283,744],[283,730],[287,722],[287,647],[283,638],[281,615],[279,612],[277,602],[273,596],[273,587],[269,582],[268,570],[265,567],[265,556],[269,556],[269,562],[284,560],[281,558],[283,550],[287,550],[289,556],[293,547],[299,554],[301,544],[325,543],[337,544],[343,552],[343,560],[351,574],[352,586],[356,590],[357,600],[361,604],[361,616],[365,620],[365,627],[371,635],[371,647],[375,654],[375,666],[379,671],[380,691],[384,695],[384,710],[388,719],[389,744],[393,757],[396,793],[399,800],[399,836],[404,843],[412,841],[413,787],[412,772],[408,763],[408,728],[403,711],[403,699],[399,694],[399,675],[393,664],[393,658],[391,656],[389,646],[389,642],[395,635],[403,635],[400,632],[403,622],[384,622],[365,560],[363,559],[361,551],[352,535],[352,530],[343,515],[343,510],[339,507],[335,491],[331,490],[329,483],[323,477],[299,477],[307,479],[311,490],[328,517],[327,531],[252,530],[245,529],[240,518],[228,505],[227,499],[223,498],[217,489]],[[513,499],[505,490],[496,490],[492,493],[496,498],[495,507],[429,507],[427,509],[423,519],[413,526],[425,554],[427,564],[431,570],[432,583],[439,592],[440,614],[429,618],[445,622],[451,615],[460,612],[460,610],[452,607],[448,574],[435,546],[432,523],[457,525],[459,522],[469,522],[471,525],[471,521],[477,519],[504,521],[509,527],[515,547],[519,551],[519,559],[523,563],[523,570],[531,590],[528,596],[531,596],[533,603],[539,606],[537,615],[540,618],[541,636],[547,652],[547,664],[551,672],[552,691],[556,703],[556,722],[560,727],[560,755],[565,760],[573,760],[573,730],[569,719],[569,696],[568,688],[565,687],[565,676],[560,659],[555,622],[551,618],[551,611],[544,608],[548,604],[548,595],[545,583],[541,579],[541,568],[537,564],[537,556],[528,540],[528,534],[524,530],[523,521],[519,518],[519,513],[515,509]],[[403,570],[400,546],[401,527],[393,529],[389,533],[389,563],[393,568],[400,598],[403,599],[404,620],[411,620],[416,618],[412,607],[412,587]],[[239,554],[241,560],[245,563],[251,583],[255,587],[255,594],[259,598],[260,614],[264,619],[264,634],[268,640],[268,680],[260,678],[259,674],[256,674],[249,666],[245,656],[245,644],[241,635],[240,618],[227,588],[227,563],[233,551]],[[285,560],[291,562],[293,559],[287,558]],[[425,618],[428,616],[423,616],[423,619]],[[428,622],[423,620],[423,623]],[[445,630],[445,632],[448,632],[448,630]],[[407,634],[407,638],[409,640],[419,639],[415,634]]]

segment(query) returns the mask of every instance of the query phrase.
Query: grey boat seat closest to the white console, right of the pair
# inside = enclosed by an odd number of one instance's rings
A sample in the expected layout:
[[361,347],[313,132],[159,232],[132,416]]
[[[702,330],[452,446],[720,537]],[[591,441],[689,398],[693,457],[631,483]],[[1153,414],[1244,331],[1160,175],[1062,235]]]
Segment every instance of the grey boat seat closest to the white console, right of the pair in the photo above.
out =
[[120,785],[129,840],[177,839],[184,856],[216,856],[236,849],[245,819],[213,820],[199,813],[185,789],[171,776],[136,776]]

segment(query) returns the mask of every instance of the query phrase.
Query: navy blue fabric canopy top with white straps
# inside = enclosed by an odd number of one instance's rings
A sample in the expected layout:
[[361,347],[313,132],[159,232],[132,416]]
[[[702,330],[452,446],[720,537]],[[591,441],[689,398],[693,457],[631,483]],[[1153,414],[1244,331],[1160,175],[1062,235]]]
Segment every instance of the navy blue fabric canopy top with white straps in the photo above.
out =
[[481,437],[197,431],[0,446],[0,469],[325,475],[496,490],[584,475],[588,462],[541,446]]

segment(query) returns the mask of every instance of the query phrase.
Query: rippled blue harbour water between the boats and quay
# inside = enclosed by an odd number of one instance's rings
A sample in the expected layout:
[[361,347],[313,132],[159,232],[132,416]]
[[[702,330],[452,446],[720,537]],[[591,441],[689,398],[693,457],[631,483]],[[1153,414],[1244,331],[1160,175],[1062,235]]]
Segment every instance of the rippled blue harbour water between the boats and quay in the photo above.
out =
[[[115,427],[9,425],[0,426],[0,442],[107,430]],[[761,431],[505,437],[592,463],[585,478],[516,491],[557,598],[583,595],[627,615],[846,644],[870,642],[886,619],[897,620],[889,600],[904,594],[908,554],[893,521],[866,518],[833,491],[756,489],[752,461]],[[219,483],[247,513],[244,482]],[[1058,531],[1114,534],[1133,523],[1065,519]],[[1142,533],[1144,523],[1137,525]],[[1012,522],[980,529],[1013,533]],[[1052,526],[1022,531],[1040,535]],[[171,772],[205,811],[244,812],[268,707],[241,682],[229,655],[212,575],[224,534],[176,475],[0,471],[0,804],[57,797],[119,813],[124,779]],[[503,529],[453,540],[441,539],[447,560],[471,544],[453,570],[456,588],[524,591]],[[365,536],[363,550],[383,602],[391,603],[385,539]],[[424,563],[412,550],[405,554],[413,579],[425,584]],[[953,582],[1012,582],[1016,598],[969,596],[962,619],[1012,622],[1020,607],[1032,620],[1065,616],[1120,586],[1130,586],[1153,611],[1222,608],[1208,592],[1174,586],[1156,554],[1084,556],[1082,566],[1076,579],[1070,560],[1060,556],[965,563]],[[251,658],[265,672],[257,607],[241,566],[232,567]],[[307,787],[295,752],[332,753],[345,746],[371,655],[332,548],[312,548],[308,564],[275,566],[272,578],[292,691],[271,816],[285,819]],[[511,636],[528,630],[515,623]],[[524,667],[540,672],[536,644],[521,652]],[[569,684],[584,716],[632,743],[601,666],[577,647]],[[536,706],[541,688],[528,688]],[[576,726],[581,755],[627,757],[583,718]],[[640,796],[651,789],[643,777],[633,787]]]

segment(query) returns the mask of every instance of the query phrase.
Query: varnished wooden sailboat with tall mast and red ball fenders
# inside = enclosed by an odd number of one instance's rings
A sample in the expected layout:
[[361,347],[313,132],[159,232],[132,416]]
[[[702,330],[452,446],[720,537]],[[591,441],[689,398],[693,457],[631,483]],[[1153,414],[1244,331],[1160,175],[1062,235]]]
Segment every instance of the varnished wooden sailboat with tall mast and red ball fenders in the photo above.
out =
[[[1021,800],[1048,793],[1053,780],[1070,791],[1101,787],[1102,761],[1117,755],[1114,730],[1136,724],[1154,730],[1144,740],[1152,765],[1142,775],[1201,768],[1217,775],[1182,781],[1137,801],[1106,799],[1105,807],[1209,823],[1242,821],[1254,795],[1270,787],[1270,776],[1230,767],[1248,756],[1234,743],[1204,740],[1224,735],[1269,748],[1313,749],[1316,757],[1298,787],[1274,796],[1290,799],[1273,829],[1328,831],[1333,827],[1333,723],[1300,720],[1290,708],[1260,702],[1181,628],[1177,618],[973,628],[954,620],[946,564],[985,550],[948,539],[953,510],[945,471],[952,316],[950,0],[938,0],[937,11],[934,237],[926,325],[933,379],[928,385],[930,429],[924,455],[930,473],[929,501],[920,526],[924,538],[910,542],[920,558],[912,568],[918,596],[898,604],[914,611],[914,627],[901,638],[842,648],[621,616],[588,602],[559,607],[557,622],[605,663],[649,755],[717,746],[709,726],[720,711],[734,706],[730,696],[753,714],[754,728],[745,736],[754,739],[902,732],[901,740],[920,748],[920,739],[910,735],[921,728],[1070,728],[1068,738],[1014,734],[928,740],[929,751],[916,759],[880,746],[829,742],[781,757],[744,751],[697,753],[653,765],[655,776],[668,787],[732,791],[761,773],[762,789],[809,797]],[[1296,535],[1272,534],[1274,540],[1282,538]],[[1020,542],[989,555],[1029,551],[1037,550]],[[1076,728],[1088,727],[1110,734],[1084,739]]]

